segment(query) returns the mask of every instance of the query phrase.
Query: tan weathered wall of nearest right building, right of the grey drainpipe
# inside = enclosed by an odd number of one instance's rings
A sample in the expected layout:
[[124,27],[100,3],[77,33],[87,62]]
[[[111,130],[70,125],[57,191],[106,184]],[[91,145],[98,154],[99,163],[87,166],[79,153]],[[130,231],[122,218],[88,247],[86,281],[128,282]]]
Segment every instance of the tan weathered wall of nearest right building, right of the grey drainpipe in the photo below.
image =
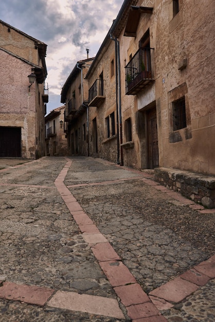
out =
[[[172,0],[138,1],[137,6],[153,7],[152,14],[141,14],[136,37],[119,37],[123,144],[124,122],[132,120],[133,147],[123,148],[124,164],[147,167],[147,129],[138,136],[137,111],[145,112],[156,102],[159,165],[215,174],[214,108],[214,2],[180,1],[173,17]],[[139,41],[150,31],[154,84],[137,95],[126,95],[124,65],[139,48]],[[185,96],[186,128],[173,131],[172,101]],[[145,124],[143,124],[145,127]],[[126,145],[125,145],[126,147]],[[144,151],[145,149],[145,151]]]

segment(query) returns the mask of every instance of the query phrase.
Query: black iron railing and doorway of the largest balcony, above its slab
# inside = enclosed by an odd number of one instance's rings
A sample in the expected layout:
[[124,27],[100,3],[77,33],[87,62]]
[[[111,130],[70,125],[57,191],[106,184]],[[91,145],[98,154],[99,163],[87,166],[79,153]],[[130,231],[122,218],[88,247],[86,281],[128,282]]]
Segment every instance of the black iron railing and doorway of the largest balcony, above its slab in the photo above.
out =
[[140,48],[125,68],[126,92],[137,83],[135,79],[152,79],[151,48]]

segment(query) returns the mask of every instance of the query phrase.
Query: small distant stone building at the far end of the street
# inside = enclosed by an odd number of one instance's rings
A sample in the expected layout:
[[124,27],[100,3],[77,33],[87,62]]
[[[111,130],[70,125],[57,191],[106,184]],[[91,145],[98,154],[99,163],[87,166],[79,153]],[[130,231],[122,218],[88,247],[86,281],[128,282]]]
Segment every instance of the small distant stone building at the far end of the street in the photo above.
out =
[[45,117],[46,156],[68,155],[67,138],[64,129],[65,105],[51,111]]

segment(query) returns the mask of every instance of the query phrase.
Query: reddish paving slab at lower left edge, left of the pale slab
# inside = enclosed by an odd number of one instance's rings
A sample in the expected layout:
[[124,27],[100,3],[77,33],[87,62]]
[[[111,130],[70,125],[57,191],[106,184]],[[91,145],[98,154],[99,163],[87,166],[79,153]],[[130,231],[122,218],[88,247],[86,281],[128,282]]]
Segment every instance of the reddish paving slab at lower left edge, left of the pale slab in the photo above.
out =
[[44,306],[55,290],[37,286],[20,285],[4,282],[0,287],[0,298],[19,300],[26,303]]

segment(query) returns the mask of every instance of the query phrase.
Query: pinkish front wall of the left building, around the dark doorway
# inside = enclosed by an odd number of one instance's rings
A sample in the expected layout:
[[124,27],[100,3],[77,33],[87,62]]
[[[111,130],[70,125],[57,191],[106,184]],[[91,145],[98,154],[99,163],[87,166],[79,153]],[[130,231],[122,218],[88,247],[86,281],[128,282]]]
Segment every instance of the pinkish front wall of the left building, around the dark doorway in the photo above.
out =
[[22,157],[35,158],[35,93],[38,92],[35,83],[28,91],[31,66],[3,50],[0,57],[0,126],[22,128]]

